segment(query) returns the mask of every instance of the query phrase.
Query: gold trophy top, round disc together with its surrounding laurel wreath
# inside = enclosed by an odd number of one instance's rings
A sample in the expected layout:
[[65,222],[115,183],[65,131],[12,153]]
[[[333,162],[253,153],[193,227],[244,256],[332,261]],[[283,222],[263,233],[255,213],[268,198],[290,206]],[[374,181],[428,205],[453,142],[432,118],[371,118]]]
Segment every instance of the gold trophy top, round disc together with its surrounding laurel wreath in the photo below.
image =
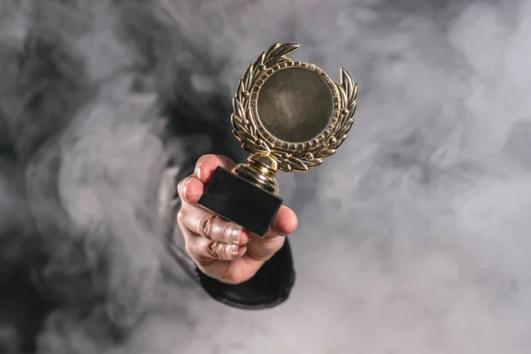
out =
[[308,171],[334,155],[358,105],[357,85],[344,68],[334,82],[316,65],[288,57],[299,47],[275,43],[249,65],[231,115],[233,134],[250,159],[266,156],[286,172]]

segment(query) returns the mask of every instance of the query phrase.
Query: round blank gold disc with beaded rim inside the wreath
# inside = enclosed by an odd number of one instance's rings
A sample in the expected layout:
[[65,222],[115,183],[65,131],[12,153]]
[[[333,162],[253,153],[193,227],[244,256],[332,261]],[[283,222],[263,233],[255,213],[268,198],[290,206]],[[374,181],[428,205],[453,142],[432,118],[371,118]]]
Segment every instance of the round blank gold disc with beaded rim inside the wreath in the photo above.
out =
[[256,81],[250,95],[251,119],[266,140],[286,150],[322,141],[339,118],[334,82],[315,65],[286,62]]

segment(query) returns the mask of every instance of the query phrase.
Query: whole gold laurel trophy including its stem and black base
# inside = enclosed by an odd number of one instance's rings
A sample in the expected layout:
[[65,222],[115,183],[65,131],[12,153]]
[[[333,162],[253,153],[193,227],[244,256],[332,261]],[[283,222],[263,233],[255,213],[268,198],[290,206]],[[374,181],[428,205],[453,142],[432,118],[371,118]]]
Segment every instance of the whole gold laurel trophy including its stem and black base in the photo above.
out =
[[298,43],[276,43],[238,82],[233,133],[250,157],[232,171],[218,167],[199,204],[264,236],[282,204],[276,173],[323,163],[354,123],[358,89],[342,68],[341,83],[316,65],[287,56]]

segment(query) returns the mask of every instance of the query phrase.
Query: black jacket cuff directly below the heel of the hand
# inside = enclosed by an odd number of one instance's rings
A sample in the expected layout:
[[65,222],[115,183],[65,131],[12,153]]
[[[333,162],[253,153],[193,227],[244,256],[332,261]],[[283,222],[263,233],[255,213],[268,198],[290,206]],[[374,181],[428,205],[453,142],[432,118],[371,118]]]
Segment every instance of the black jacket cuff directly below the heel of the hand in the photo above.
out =
[[289,242],[262,266],[249,281],[226,284],[196,269],[204,290],[215,300],[244,310],[267,309],[283,303],[295,283]]

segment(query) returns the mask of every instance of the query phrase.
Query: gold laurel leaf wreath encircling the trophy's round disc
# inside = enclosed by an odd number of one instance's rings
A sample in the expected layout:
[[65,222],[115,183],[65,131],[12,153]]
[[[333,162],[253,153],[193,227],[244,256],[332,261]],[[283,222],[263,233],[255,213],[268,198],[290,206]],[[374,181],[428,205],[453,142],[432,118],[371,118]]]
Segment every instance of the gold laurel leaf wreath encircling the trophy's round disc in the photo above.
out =
[[298,43],[276,43],[262,53],[251,65],[238,82],[233,98],[232,114],[233,133],[242,142],[242,148],[251,154],[265,152],[277,160],[282,171],[308,171],[321,165],[325,158],[334,155],[337,148],[346,139],[350,127],[354,123],[354,112],[358,105],[358,87],[353,83],[350,74],[342,68],[341,83],[335,82],[341,96],[340,117],[329,135],[317,145],[301,150],[288,150],[268,142],[257,127],[257,122],[250,119],[250,89],[261,73],[274,65],[292,62],[286,57],[300,47]]

